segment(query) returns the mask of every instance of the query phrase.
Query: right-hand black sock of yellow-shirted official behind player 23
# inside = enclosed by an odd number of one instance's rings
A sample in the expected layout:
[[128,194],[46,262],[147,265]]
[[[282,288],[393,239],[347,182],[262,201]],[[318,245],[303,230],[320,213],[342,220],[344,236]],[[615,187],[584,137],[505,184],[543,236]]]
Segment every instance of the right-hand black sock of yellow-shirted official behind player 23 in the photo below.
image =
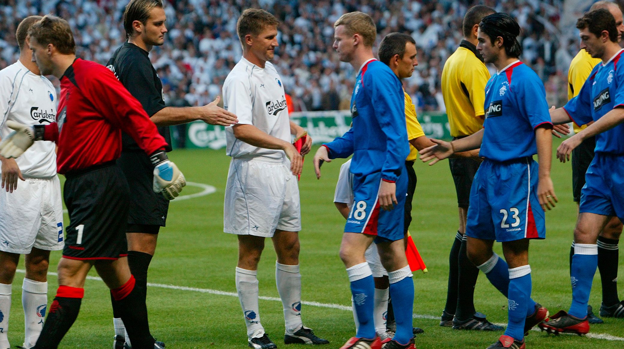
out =
[[477,277],[479,276],[479,268],[477,268],[468,259],[466,254],[466,235],[462,240],[461,248],[459,249],[459,277],[457,281],[457,310],[455,316],[457,320],[468,320],[476,310],[474,309],[474,286],[477,284]]

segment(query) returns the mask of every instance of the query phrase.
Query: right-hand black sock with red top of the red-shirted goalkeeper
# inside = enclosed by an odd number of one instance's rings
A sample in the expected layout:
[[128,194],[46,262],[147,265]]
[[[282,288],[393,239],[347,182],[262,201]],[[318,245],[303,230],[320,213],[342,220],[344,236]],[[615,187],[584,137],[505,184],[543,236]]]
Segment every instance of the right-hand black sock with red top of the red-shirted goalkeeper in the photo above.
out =
[[150,326],[147,322],[145,291],[141,290],[135,277],[130,276],[124,286],[110,290],[110,294],[113,297],[113,309],[124,321],[132,348],[154,349],[154,337],[150,335]]

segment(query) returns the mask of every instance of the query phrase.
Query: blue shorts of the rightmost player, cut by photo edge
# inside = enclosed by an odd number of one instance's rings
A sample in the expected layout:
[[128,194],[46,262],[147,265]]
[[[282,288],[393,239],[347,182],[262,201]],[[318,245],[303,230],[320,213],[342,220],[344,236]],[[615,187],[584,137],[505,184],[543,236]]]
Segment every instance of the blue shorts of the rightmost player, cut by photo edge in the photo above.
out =
[[624,156],[596,153],[585,174],[578,212],[624,221]]

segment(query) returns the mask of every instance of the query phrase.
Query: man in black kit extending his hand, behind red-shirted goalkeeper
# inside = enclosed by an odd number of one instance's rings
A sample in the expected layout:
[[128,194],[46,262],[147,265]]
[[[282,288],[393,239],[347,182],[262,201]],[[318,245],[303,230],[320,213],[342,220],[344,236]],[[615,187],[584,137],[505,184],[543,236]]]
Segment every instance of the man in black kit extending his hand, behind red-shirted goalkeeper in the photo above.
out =
[[[171,151],[168,126],[202,120],[208,124],[229,126],[236,123],[236,116],[217,106],[219,98],[200,107],[174,108],[165,106],[162,83],[152,66],[149,52],[164,43],[167,33],[165,11],[161,0],[132,0],[125,7],[125,42],[107,63],[119,81],[137,98],[150,119],[158,126]],[[156,249],[158,231],[165,226],[169,200],[152,191],[152,169],[149,157],[140,151],[128,134],[122,136],[122,155],[119,164],[130,185],[130,211],[128,215],[127,240],[128,263],[142,289],[147,289],[147,269]],[[144,295],[145,297],[145,295]],[[124,324],[119,314],[113,314],[115,326],[114,348],[130,347]],[[124,338],[125,337],[125,338]]]

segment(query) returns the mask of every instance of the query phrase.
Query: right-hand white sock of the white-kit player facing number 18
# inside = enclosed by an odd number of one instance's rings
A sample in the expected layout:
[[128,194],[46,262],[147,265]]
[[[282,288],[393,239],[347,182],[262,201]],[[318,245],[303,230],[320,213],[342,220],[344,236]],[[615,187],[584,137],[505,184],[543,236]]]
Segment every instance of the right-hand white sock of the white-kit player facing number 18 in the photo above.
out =
[[288,266],[275,262],[275,283],[284,309],[286,332],[293,334],[303,327],[301,321],[301,274],[299,264]]

